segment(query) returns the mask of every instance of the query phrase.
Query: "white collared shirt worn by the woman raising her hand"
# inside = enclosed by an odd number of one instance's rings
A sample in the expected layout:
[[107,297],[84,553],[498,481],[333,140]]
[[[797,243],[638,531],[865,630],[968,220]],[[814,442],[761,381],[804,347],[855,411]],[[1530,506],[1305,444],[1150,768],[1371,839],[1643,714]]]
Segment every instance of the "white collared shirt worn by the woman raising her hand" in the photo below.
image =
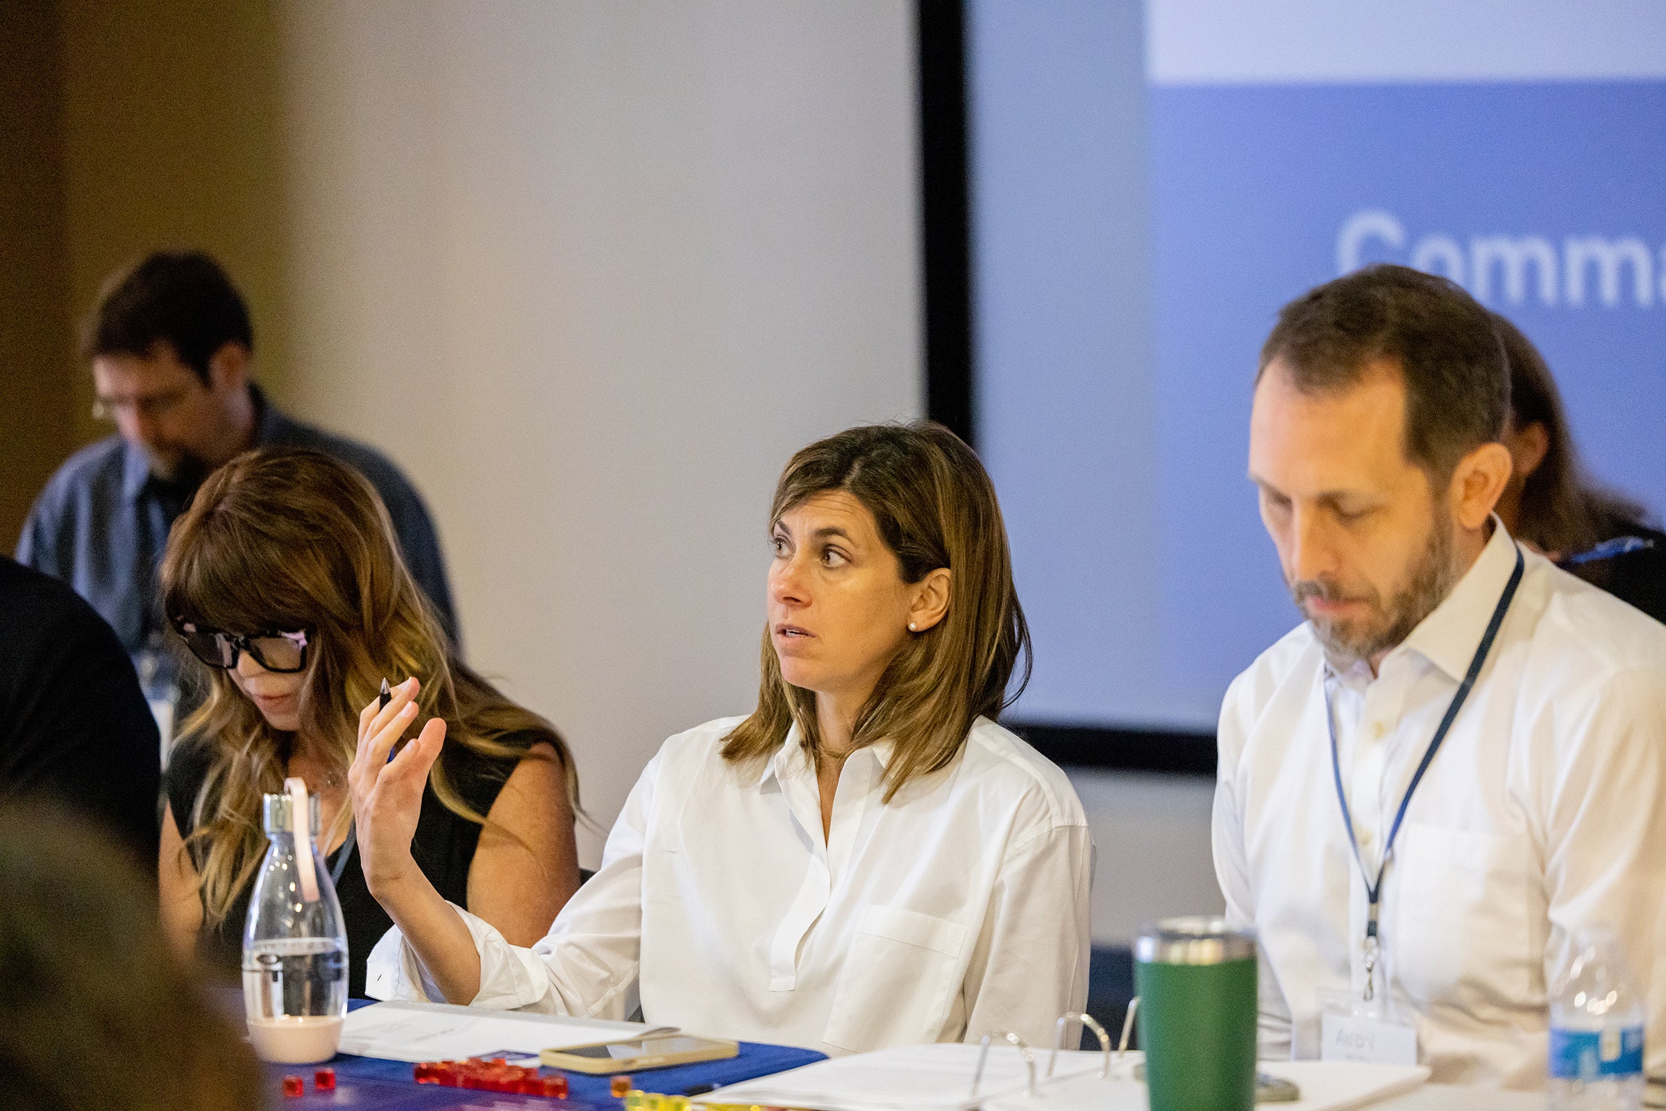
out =
[[[980,718],[890,803],[890,746],[853,753],[823,839],[796,730],[760,775],[718,751],[740,721],[665,743],[531,949],[458,908],[473,1004],[625,1018],[640,991],[648,1023],[823,1053],[996,1029],[1050,1046],[1088,991],[1093,839],[1070,780]],[[433,993],[397,933],[368,973],[378,998]]]

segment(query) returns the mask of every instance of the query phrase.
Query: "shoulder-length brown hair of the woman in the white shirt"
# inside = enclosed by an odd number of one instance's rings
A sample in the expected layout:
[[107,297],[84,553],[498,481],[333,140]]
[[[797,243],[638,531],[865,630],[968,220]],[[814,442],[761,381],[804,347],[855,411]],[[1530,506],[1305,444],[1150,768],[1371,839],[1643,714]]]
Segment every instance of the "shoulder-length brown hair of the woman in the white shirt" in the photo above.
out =
[[[1030,626],[1013,586],[1001,506],[983,463],[955,433],[931,421],[868,425],[818,440],[786,465],[770,526],[818,493],[845,491],[878,525],[903,581],[918,583],[948,568],[948,613],[910,636],[856,716],[855,748],[895,745],[885,800],[910,780],[955,758],[971,723],[996,718],[1030,681]],[[1018,656],[1025,670],[1008,695]],[[758,708],[723,741],[735,763],[768,758],[796,723],[805,748],[820,751],[815,693],[781,678],[781,663],[763,630]]]

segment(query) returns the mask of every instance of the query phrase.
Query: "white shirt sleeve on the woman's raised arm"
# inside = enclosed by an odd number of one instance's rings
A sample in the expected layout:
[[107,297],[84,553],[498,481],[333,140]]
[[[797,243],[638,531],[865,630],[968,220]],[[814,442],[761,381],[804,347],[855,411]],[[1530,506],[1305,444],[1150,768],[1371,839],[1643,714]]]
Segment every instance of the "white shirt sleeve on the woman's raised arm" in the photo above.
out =
[[[623,1019],[636,1009],[641,958],[641,853],[660,760],[643,770],[591,876],[550,933],[530,949],[461,906],[480,954],[480,993],[470,1006]],[[453,904],[455,906],[455,904]],[[390,929],[367,961],[367,993],[377,999],[443,999],[415,949]]]

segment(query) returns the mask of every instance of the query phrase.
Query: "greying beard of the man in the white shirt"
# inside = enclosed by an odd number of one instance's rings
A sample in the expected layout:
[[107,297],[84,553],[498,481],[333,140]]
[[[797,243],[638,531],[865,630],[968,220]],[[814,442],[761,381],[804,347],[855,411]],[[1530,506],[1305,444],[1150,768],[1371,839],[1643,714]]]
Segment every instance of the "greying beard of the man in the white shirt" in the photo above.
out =
[[[1394,595],[1384,606],[1381,596],[1366,588],[1366,593],[1349,595],[1331,580],[1303,580],[1289,583],[1289,593],[1296,600],[1314,636],[1324,648],[1324,658],[1338,671],[1348,671],[1361,661],[1374,660],[1388,653],[1394,645],[1411,636],[1423,618],[1434,613],[1434,608],[1446,600],[1458,581],[1453,566],[1453,520],[1451,515],[1436,510],[1434,526],[1429,530],[1428,545],[1423,556],[1411,568],[1411,580],[1406,588]],[[1324,616],[1308,613],[1308,598],[1324,601],[1364,601],[1373,615],[1359,621],[1333,621]]]

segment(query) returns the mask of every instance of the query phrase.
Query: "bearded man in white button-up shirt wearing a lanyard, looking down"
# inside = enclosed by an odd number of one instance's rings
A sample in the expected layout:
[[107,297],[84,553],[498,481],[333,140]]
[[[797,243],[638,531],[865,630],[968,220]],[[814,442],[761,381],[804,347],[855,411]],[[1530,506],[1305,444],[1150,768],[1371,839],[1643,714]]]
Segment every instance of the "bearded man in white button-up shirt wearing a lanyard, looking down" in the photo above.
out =
[[1308,621],[1226,695],[1215,863],[1259,934],[1264,1056],[1321,1056],[1321,996],[1371,978],[1436,1079],[1541,1086],[1549,988],[1608,926],[1666,1073],[1666,626],[1493,516],[1506,390],[1484,310],[1398,267],[1298,298],[1263,348],[1250,476]]

